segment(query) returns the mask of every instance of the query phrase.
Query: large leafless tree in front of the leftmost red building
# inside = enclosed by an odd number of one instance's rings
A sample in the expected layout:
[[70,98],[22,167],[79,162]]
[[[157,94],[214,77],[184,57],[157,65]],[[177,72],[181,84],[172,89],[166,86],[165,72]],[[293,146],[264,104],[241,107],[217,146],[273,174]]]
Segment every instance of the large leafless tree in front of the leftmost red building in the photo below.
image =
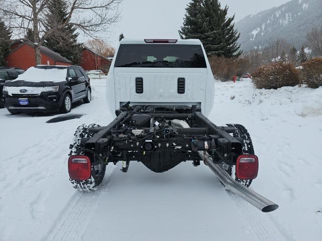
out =
[[59,32],[60,29],[70,24],[85,36],[99,38],[100,33],[108,32],[111,25],[119,20],[118,6],[121,1],[67,0],[67,18],[49,31],[45,31],[48,16],[46,7],[49,0],[3,0],[0,5],[0,14],[3,14],[8,26],[11,26],[14,34],[20,38],[25,36],[28,29],[33,29],[36,63],[41,64],[40,46],[47,35],[55,31]]

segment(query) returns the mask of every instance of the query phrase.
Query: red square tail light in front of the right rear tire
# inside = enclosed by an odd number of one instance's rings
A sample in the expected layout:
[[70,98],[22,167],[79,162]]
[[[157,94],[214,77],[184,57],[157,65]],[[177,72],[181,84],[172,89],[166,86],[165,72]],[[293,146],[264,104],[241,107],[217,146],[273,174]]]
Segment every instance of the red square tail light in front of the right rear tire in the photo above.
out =
[[258,174],[258,157],[256,155],[240,155],[236,161],[236,177],[239,179],[255,179]]

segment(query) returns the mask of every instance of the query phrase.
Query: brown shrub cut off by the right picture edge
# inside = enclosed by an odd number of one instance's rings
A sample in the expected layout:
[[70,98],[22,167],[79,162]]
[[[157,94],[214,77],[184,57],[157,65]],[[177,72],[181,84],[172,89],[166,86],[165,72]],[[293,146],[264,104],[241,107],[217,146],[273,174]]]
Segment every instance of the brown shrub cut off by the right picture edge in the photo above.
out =
[[322,58],[308,60],[302,66],[302,81],[310,88],[322,86]]

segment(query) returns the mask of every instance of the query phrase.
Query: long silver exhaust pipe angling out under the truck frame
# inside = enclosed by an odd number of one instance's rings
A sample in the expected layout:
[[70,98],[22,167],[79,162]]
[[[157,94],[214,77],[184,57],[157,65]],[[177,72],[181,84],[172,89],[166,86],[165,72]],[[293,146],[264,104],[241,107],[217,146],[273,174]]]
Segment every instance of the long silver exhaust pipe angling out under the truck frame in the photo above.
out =
[[[172,121],[172,126],[190,128],[188,123],[179,119],[174,119]],[[219,180],[226,187],[226,189],[243,198],[245,201],[260,209],[262,212],[271,212],[278,208],[276,203],[268,200],[257,192],[254,192],[253,190],[232,179],[232,177],[225,170],[212,161],[212,158],[206,152],[198,151],[198,154],[205,164],[218,176]]]

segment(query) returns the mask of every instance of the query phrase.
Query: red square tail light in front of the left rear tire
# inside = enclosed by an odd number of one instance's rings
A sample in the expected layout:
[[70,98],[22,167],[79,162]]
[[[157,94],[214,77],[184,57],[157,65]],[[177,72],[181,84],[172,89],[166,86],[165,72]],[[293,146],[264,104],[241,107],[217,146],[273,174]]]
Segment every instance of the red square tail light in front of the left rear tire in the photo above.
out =
[[70,156],[68,158],[69,177],[82,181],[91,177],[91,159],[87,156]]

